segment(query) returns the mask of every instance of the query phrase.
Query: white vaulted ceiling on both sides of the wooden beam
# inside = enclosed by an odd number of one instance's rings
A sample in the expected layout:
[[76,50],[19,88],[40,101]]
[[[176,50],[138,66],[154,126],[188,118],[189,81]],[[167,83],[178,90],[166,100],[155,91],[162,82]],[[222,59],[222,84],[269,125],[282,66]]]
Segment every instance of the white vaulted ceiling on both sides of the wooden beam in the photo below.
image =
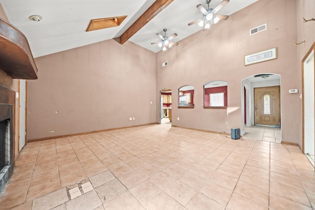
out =
[[[0,3],[9,22],[25,34],[33,57],[37,58],[119,37],[154,1],[0,0]],[[230,0],[218,14],[231,15],[255,1],[257,0]],[[212,0],[210,7],[214,8],[220,2],[221,0]],[[207,8],[205,0],[174,0],[129,41],[158,52],[161,48],[151,45],[151,42],[160,41],[156,33],[164,35],[164,28],[167,29],[167,36],[178,34],[172,40],[175,42],[202,30],[198,24],[188,26],[188,23],[202,18],[202,13],[196,8],[197,4]],[[40,15],[43,19],[39,22],[31,21],[29,17],[32,15]],[[127,18],[119,27],[86,32],[91,19],[124,15]]]

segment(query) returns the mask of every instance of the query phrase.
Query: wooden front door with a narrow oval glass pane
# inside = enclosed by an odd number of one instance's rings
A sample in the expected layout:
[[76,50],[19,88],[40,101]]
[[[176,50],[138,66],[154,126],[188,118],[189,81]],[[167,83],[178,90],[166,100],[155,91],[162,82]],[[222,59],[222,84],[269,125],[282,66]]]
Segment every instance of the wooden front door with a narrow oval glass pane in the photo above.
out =
[[280,86],[254,89],[255,125],[280,127]]

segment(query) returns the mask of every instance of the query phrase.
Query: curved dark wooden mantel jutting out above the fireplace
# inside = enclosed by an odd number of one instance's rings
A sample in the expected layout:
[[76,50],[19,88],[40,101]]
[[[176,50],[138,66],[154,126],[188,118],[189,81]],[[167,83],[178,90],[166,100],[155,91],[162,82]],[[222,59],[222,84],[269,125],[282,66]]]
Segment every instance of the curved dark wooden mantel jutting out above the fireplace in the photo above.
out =
[[0,69],[13,79],[37,79],[37,67],[26,36],[1,18]]

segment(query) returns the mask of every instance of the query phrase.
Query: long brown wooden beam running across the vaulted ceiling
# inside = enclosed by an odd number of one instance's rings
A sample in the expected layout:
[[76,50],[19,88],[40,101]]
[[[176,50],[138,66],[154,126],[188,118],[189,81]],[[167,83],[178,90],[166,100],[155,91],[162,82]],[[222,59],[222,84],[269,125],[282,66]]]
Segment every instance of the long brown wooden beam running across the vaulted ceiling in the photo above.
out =
[[124,44],[138,30],[149,23],[158,13],[165,9],[173,0],[156,0],[130,27],[120,36],[120,44]]

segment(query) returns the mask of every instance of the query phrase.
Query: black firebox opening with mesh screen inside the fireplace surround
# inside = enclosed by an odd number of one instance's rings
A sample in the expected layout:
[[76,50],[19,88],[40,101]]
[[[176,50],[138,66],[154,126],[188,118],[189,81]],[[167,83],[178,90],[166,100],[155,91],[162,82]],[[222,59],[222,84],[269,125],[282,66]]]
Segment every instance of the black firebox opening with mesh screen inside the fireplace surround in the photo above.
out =
[[0,121],[0,169],[11,164],[10,119]]

